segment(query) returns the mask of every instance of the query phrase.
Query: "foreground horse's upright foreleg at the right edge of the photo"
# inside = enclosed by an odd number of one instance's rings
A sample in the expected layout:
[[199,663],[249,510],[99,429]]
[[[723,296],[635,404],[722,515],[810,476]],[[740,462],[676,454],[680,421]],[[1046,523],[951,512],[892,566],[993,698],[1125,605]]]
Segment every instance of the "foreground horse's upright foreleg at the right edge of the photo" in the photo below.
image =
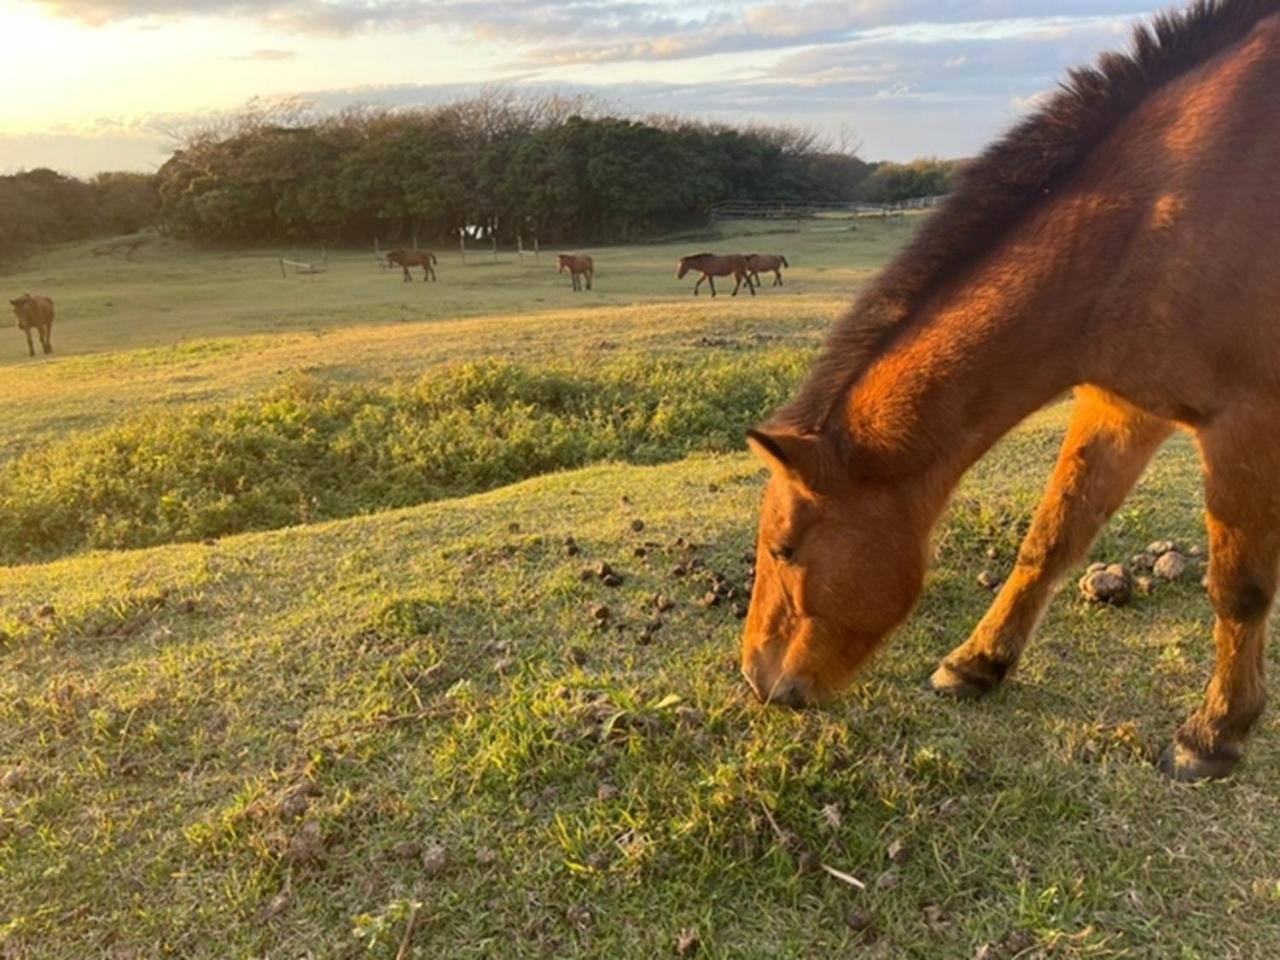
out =
[[1160,758],[1161,772],[1175,780],[1230,773],[1266,703],[1267,613],[1280,564],[1280,452],[1263,438],[1275,415],[1215,420],[1199,434],[1217,657],[1199,709]]

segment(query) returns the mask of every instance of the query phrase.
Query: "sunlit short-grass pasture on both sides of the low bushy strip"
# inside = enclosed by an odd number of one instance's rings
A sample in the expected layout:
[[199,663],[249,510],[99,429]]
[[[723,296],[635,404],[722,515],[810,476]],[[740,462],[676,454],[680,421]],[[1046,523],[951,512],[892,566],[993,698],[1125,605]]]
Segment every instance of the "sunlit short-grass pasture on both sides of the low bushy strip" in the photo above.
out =
[[[803,351],[908,232],[760,239],[794,282],[714,303],[669,270],[709,242],[602,251],[576,300],[545,269],[444,264],[424,289],[332,256],[285,282],[266,252],[159,244],[70,282],[63,251],[3,278],[61,314],[52,361],[13,334],[0,456],[300,371]],[[742,453],[0,570],[0,956],[1280,955],[1280,724],[1228,782],[1151,767],[1210,668],[1198,573],[1121,609],[1065,591],[987,703],[923,690],[989,602],[978,572],[1011,563],[1066,412],[965,480],[915,617],[806,713],[744,696],[736,602],[700,603],[709,571],[745,575]],[[1197,543],[1199,511],[1179,439],[1094,557]],[[620,588],[582,579],[602,561]]]

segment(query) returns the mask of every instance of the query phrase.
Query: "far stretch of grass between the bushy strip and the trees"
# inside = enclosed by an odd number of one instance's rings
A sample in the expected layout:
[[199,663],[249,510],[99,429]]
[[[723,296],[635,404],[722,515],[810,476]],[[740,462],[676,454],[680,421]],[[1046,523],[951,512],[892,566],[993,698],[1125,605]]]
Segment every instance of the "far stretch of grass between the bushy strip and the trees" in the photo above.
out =
[[[28,361],[17,330],[0,340],[0,457],[140,406],[223,401],[297,371],[370,383],[479,356],[590,364],[605,352],[705,349],[701,338],[812,342],[913,225],[593,250],[595,289],[579,294],[550,251],[536,265],[515,253],[462,265],[442,252],[440,283],[406,284],[372,253],[333,252],[325,274],[282,279],[276,257],[292,251],[193,252],[156,238],[127,262],[92,256],[96,244],[56,250],[0,274],[8,297],[44,291],[58,308],[52,360]],[[730,301],[726,289],[713,301],[704,285],[695,300],[694,278],[675,279],[684,253],[735,243],[799,252],[783,296]]]

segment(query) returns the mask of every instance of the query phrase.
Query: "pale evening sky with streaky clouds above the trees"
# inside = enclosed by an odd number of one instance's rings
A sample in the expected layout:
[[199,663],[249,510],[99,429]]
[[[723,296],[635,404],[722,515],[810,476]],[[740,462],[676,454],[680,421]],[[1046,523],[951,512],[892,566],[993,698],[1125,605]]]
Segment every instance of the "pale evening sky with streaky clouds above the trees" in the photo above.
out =
[[252,100],[589,93],[968,156],[1152,0],[0,0],[0,173],[154,170]]

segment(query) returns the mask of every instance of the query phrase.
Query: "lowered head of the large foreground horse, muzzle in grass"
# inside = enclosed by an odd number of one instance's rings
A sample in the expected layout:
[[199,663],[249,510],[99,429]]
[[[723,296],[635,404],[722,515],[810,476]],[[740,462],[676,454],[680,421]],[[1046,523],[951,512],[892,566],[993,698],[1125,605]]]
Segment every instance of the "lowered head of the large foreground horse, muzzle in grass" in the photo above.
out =
[[859,477],[835,439],[748,436],[773,476],[742,673],[762,700],[805,707],[842,686],[911,612],[931,517],[909,486]]

